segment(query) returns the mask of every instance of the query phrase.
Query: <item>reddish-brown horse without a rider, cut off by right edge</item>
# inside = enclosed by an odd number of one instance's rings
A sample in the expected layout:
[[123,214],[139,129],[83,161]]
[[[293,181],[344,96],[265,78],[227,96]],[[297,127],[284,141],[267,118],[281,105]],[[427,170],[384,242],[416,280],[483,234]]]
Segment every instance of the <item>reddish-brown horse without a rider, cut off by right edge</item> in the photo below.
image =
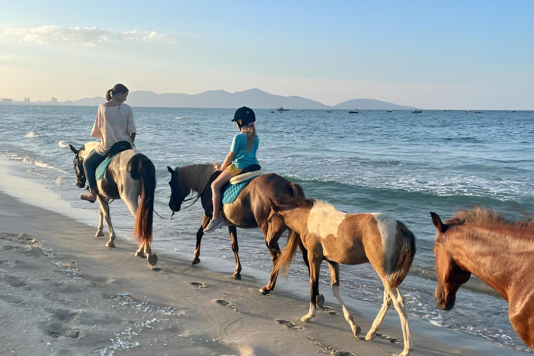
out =
[[439,309],[451,310],[471,273],[508,302],[508,317],[534,351],[534,220],[512,222],[483,208],[462,210],[437,229],[434,255]]

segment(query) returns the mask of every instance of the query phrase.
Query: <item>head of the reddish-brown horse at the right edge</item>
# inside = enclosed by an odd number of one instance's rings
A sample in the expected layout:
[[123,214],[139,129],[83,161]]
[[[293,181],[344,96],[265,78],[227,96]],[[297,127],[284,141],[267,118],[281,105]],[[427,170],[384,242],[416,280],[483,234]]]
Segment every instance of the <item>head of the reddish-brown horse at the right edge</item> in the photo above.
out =
[[446,243],[446,232],[454,225],[442,222],[437,213],[430,213],[432,223],[437,229],[434,244],[434,257],[437,274],[437,285],[434,291],[436,306],[442,310],[451,310],[456,301],[456,292],[462,284],[469,280],[471,273],[462,270],[454,261]]

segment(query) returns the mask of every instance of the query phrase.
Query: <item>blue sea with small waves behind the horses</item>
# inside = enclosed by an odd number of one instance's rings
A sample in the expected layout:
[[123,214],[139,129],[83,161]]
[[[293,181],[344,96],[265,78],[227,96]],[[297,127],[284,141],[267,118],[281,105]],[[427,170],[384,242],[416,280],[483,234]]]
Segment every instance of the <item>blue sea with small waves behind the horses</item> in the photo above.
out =
[[[85,106],[0,106],[0,156],[24,162],[26,177],[45,184],[72,207],[96,210],[97,204],[79,200],[74,155],[68,147],[79,148],[91,139],[96,111]],[[168,218],[166,166],[222,162],[236,133],[230,122],[234,110],[134,107],[133,112],[138,151],[156,166],[155,209]],[[512,219],[532,213],[534,112],[255,112],[258,159],[264,172],[295,181],[307,197],[326,200],[342,211],[389,213],[414,232],[417,254],[401,285],[411,315],[527,350],[510,326],[507,303],[475,277],[462,286],[452,311],[435,307],[435,227],[429,212],[445,220],[460,208],[478,204]],[[131,238],[133,218],[122,202],[111,204],[111,217],[119,236]],[[154,216],[154,252],[177,251],[192,258],[201,220],[200,203],[172,220]],[[238,229],[238,242],[243,274],[252,267],[270,270],[259,229]],[[285,238],[280,243],[284,245]],[[201,253],[201,259],[233,261],[227,231],[204,236]],[[300,257],[291,266],[289,279],[307,280]],[[323,266],[321,289],[330,288],[329,284]],[[376,305],[382,302],[382,284],[369,264],[341,266],[341,293]]]

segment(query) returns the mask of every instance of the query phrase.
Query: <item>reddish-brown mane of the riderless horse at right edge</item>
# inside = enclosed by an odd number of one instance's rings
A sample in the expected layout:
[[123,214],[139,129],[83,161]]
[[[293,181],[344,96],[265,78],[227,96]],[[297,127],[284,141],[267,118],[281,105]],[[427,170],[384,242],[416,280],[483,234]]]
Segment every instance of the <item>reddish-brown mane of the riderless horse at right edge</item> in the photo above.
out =
[[473,225],[481,225],[486,227],[496,228],[517,228],[524,229],[529,232],[534,232],[534,220],[526,214],[525,220],[511,221],[504,218],[500,213],[494,209],[486,209],[484,207],[476,207],[474,209],[461,209],[451,219],[447,220],[446,224],[451,223],[468,223]]

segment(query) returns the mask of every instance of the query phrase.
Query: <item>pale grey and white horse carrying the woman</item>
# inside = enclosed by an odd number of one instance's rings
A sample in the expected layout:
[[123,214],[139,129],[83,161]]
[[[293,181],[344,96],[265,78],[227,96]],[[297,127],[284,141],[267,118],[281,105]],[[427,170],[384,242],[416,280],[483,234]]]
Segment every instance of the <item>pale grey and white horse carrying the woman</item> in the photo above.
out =
[[[80,149],[72,145],[70,149],[74,157],[74,172],[76,186],[84,188],[86,175],[83,170],[83,160],[99,145],[98,142],[86,143]],[[127,149],[113,156],[106,168],[104,178],[97,181],[99,202],[99,225],[95,236],[104,236],[104,218],[109,229],[109,241],[106,247],[115,247],[115,232],[109,215],[109,202],[113,199],[122,200],[132,216],[136,218],[133,234],[139,243],[136,252],[138,257],[147,257],[148,264],[153,266],[158,257],[152,253],[152,218],[154,214],[154,191],[156,190],[156,169],[147,156],[137,153],[134,149]]]

